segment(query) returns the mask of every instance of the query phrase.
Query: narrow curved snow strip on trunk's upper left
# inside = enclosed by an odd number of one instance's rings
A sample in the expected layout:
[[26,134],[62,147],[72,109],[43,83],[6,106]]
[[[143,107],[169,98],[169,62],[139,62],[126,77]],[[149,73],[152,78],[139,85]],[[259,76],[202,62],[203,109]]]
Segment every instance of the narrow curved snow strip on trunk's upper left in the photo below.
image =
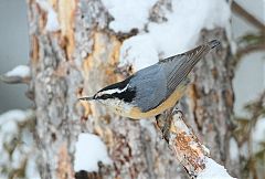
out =
[[50,32],[56,32],[60,30],[60,23],[57,20],[57,13],[53,7],[46,0],[36,0],[38,4],[47,13],[47,20],[45,30]]

